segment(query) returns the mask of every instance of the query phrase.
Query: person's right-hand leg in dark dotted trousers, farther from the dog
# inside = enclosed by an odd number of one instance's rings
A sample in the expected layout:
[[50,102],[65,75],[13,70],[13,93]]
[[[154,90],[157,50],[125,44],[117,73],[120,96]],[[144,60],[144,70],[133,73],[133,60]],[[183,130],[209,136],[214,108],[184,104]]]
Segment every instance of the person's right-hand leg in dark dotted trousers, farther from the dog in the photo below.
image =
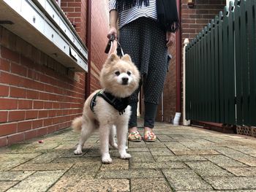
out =
[[[154,28],[154,30],[153,30]],[[150,37],[144,48],[150,50],[148,72],[143,82],[144,89],[144,131],[153,131],[157,106],[164,88],[167,73],[167,47],[165,32],[152,20],[148,22],[146,36]],[[148,43],[149,42],[149,43]],[[153,135],[154,137],[154,135]]]

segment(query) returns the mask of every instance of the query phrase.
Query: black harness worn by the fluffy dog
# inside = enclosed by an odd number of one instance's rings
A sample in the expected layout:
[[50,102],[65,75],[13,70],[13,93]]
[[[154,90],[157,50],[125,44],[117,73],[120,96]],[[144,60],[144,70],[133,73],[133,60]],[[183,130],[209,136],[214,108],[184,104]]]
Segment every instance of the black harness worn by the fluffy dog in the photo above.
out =
[[103,99],[105,99],[105,101],[107,101],[110,105],[112,105],[116,110],[118,110],[119,115],[123,115],[123,113],[125,112],[125,109],[129,105],[129,96],[125,98],[118,98],[116,96],[113,96],[111,93],[100,90],[91,99],[90,108],[92,112],[94,112],[94,106],[96,105],[97,96],[102,97]]

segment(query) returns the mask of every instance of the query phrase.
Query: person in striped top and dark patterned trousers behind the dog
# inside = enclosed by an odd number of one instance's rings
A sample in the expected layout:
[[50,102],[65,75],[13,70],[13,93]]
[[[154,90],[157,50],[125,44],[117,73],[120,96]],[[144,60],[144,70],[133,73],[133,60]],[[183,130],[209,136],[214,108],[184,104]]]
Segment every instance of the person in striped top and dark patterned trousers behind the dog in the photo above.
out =
[[[145,104],[144,140],[154,142],[157,106],[167,73],[167,47],[173,45],[179,26],[176,0],[110,0],[109,9],[108,38],[118,37],[124,53],[130,55],[140,71]],[[129,100],[129,141],[142,139],[137,125],[139,91],[140,87]]]

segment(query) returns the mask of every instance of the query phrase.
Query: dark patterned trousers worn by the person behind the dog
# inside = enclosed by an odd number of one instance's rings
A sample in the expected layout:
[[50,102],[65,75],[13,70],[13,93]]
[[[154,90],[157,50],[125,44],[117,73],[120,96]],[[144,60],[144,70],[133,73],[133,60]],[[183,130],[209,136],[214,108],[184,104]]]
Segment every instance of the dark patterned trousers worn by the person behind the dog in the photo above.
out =
[[[167,47],[165,31],[151,18],[138,18],[120,28],[119,42],[138,67],[143,85],[144,126],[153,128],[157,105],[163,91],[167,73]],[[140,87],[132,94],[132,115],[129,128],[137,126],[137,104]]]

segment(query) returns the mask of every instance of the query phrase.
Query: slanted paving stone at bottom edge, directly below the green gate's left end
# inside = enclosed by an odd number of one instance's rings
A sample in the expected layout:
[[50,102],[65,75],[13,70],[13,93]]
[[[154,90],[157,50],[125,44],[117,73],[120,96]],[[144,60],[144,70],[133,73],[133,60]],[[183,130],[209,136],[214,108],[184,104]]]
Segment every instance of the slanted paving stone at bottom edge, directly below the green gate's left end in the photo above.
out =
[[176,191],[199,191],[212,190],[195,172],[189,169],[164,169],[163,173],[170,183],[171,187]]

